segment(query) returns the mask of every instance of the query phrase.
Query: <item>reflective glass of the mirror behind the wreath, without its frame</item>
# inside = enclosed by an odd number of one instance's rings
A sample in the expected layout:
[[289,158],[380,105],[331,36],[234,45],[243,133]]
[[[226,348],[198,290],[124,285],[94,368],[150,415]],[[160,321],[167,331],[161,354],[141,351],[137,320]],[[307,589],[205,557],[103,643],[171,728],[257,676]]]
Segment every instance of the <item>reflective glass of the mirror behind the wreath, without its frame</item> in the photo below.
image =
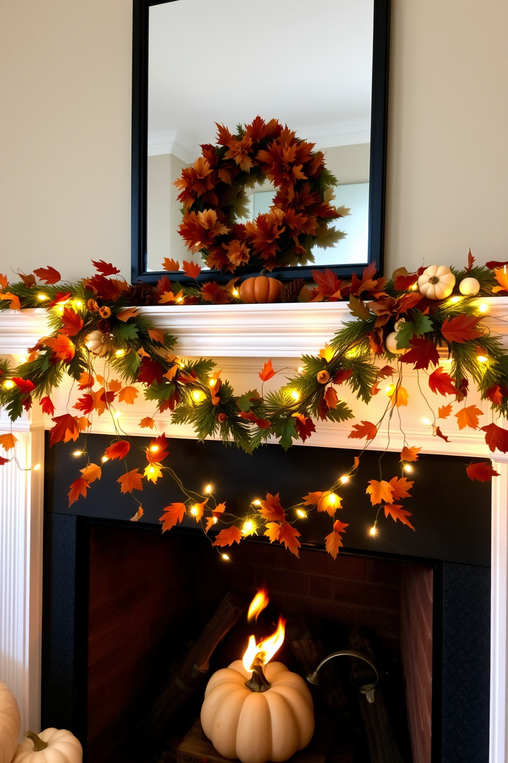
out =
[[[315,143],[338,187],[346,235],[312,254],[317,266],[367,262],[374,0],[176,0],[149,8],[147,269],[199,262],[178,233],[173,185],[216,142],[260,115]],[[273,187],[246,188],[248,218]]]

